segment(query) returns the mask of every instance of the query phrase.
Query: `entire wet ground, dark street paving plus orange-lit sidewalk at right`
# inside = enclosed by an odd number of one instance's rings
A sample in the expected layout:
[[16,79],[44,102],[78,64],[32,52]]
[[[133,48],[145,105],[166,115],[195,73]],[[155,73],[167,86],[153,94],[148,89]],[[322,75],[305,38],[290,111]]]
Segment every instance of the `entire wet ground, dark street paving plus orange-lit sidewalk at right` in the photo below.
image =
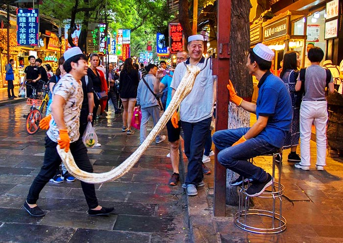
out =
[[[2,89],[0,97],[1,93]],[[287,161],[282,164],[283,216],[287,219],[287,229],[279,234],[260,235],[239,229],[233,222],[237,206],[227,206],[226,217],[214,217],[214,173],[205,175],[205,187],[199,188],[194,197],[187,197],[180,184],[168,186],[172,172],[170,159],[165,157],[169,152],[168,142],[152,143],[123,177],[96,185],[99,203],[114,206],[114,214],[89,217],[80,182],[76,180],[49,182],[38,201],[47,215],[30,217],[23,203],[42,166],[45,132],[40,130],[35,135],[25,132],[23,115],[28,111],[25,102],[0,107],[0,243],[343,242],[340,225],[343,161],[327,157],[325,171],[317,171],[315,142],[311,142],[311,170],[295,169],[294,163]],[[150,129],[151,125],[152,122]],[[96,123],[101,147],[89,149],[95,172],[115,168],[138,147],[139,132],[126,135],[121,126],[121,115],[115,115],[112,106],[108,116]],[[288,153],[289,150],[284,151],[284,158]],[[270,157],[258,157],[254,162],[271,171]],[[184,158],[181,171],[185,171],[186,165]],[[214,157],[206,165],[213,170]],[[259,198],[254,199],[254,204],[255,207],[270,206]]]

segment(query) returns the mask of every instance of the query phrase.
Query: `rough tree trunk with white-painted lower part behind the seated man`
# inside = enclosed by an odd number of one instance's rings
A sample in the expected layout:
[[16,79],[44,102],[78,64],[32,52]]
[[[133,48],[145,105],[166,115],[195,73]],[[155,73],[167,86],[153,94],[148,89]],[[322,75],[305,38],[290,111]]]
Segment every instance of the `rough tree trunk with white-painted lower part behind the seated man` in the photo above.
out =
[[[252,77],[249,75],[245,64],[247,59],[247,50],[250,48],[250,28],[249,28],[249,0],[232,0],[231,7],[231,53],[230,57],[230,79],[237,91],[237,95],[247,101],[251,101],[253,85]],[[248,127],[250,123],[250,114],[235,104],[229,105],[228,128]],[[235,172],[227,170],[226,175],[226,204],[237,205],[238,194],[237,187],[231,187],[230,181],[237,177]]]

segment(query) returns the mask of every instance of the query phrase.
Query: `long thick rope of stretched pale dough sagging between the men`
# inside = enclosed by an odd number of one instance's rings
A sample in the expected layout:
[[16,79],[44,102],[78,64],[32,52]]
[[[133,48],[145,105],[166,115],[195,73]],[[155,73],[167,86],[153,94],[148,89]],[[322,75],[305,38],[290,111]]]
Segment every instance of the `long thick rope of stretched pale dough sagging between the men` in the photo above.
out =
[[[172,97],[171,103],[169,104],[167,110],[163,113],[161,119],[157,122],[154,128],[151,130],[146,140],[141,146],[139,146],[136,151],[134,151],[122,164],[118,167],[103,173],[90,173],[80,170],[73,159],[73,155],[70,150],[66,153],[64,149],[61,149],[57,145],[57,152],[60,155],[64,165],[67,170],[76,178],[87,183],[103,183],[106,181],[113,181],[121,176],[123,176],[127,171],[129,171],[140,159],[142,154],[145,152],[149,144],[155,139],[157,134],[161,132],[163,127],[166,125],[172,117],[172,114],[179,106],[181,101],[192,91],[196,75],[200,72],[197,66],[187,66],[187,71],[183,76],[175,94]],[[201,97],[199,97],[201,98]]]

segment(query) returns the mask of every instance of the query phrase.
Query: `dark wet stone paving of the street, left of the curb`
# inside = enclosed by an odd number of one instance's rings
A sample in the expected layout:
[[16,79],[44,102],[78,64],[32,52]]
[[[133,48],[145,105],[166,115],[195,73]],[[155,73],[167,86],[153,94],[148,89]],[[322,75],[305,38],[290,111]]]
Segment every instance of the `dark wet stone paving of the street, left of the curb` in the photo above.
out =
[[[89,149],[95,172],[115,168],[139,146],[139,131],[123,133],[122,117],[110,106],[108,116],[95,125],[101,147]],[[28,110],[25,102],[0,107],[0,243],[189,242],[186,195],[180,184],[168,185],[168,142],[152,143],[123,177],[96,185],[99,204],[114,206],[113,214],[89,217],[76,180],[49,182],[38,200],[47,215],[30,217],[23,203],[42,166],[45,132],[26,133],[23,114]]]

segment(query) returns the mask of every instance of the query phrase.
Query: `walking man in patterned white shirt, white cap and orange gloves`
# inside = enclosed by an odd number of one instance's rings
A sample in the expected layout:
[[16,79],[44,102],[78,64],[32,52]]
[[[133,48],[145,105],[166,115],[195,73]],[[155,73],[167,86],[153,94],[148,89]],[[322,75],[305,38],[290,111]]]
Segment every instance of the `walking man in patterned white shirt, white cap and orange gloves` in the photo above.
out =
[[[81,78],[87,74],[87,58],[78,47],[64,53],[64,70],[67,72],[54,87],[51,103],[52,115],[40,123],[49,127],[45,139],[44,162],[38,175],[32,182],[24,203],[25,210],[34,217],[43,217],[45,212],[37,206],[37,200],[44,186],[49,182],[61,164],[57,153],[59,145],[66,152],[70,149],[76,165],[80,170],[93,172],[87,155],[87,148],[79,134],[80,109],[83,101]],[[40,124],[41,126],[41,124]],[[108,215],[114,208],[101,207],[95,193],[94,184],[81,181],[82,191],[86,197],[90,216]]]

